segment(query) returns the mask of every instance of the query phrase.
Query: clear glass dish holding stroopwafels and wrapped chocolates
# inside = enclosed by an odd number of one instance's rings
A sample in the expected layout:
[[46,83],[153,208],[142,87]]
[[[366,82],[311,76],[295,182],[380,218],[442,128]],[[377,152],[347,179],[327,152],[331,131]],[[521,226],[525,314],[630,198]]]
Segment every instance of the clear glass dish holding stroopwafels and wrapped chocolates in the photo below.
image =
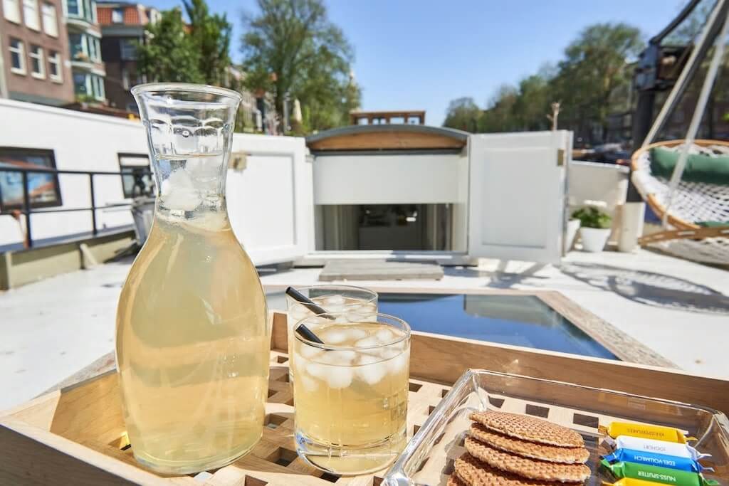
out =
[[[629,380],[629,377],[615,377]],[[670,386],[670,384],[668,384]],[[708,407],[650,399],[617,391],[588,388],[572,383],[540,380],[519,375],[469,369],[453,385],[418,429],[383,479],[386,486],[445,485],[453,461],[465,452],[464,437],[473,411],[502,410],[545,418],[580,432],[590,450],[588,466],[593,476],[585,482],[601,485],[615,482],[599,469],[599,425],[625,420],[681,429],[698,438],[699,451],[712,454],[702,460],[714,472],[704,477],[729,485],[729,420]]]

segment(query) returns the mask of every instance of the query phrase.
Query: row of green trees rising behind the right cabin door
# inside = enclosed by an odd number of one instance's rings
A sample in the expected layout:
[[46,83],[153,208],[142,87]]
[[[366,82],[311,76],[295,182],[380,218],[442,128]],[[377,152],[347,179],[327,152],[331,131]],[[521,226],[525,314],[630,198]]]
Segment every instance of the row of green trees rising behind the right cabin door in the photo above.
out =
[[469,111],[475,119],[462,119],[459,100],[454,101],[444,125],[475,126],[470,131],[478,132],[547,130],[551,103],[560,102],[560,128],[604,134],[608,115],[628,109],[631,62],[642,48],[640,31],[625,23],[589,26],[566,47],[557,66],[542,66],[517,86],[502,85],[485,110]]

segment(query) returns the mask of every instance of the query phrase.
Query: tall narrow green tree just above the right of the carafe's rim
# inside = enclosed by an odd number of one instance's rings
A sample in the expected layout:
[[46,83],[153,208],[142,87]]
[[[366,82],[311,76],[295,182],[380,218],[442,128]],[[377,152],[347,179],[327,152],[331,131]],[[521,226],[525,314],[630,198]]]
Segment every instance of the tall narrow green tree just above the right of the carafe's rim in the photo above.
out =
[[198,70],[208,85],[225,84],[230,66],[230,32],[233,26],[224,15],[210,15],[205,0],[182,0],[190,19],[190,42],[199,54]]

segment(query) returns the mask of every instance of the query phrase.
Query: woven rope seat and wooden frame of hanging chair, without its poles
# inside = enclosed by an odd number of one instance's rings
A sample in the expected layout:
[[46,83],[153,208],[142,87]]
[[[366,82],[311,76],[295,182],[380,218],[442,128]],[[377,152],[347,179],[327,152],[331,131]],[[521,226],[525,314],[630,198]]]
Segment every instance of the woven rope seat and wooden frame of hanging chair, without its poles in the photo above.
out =
[[[697,262],[729,263],[729,186],[679,180],[671,199],[670,180],[651,172],[651,149],[656,147],[681,152],[685,141],[658,142],[633,154],[633,184],[656,216],[668,222],[668,229],[640,238],[639,244]],[[726,157],[729,142],[696,140],[688,153]]]

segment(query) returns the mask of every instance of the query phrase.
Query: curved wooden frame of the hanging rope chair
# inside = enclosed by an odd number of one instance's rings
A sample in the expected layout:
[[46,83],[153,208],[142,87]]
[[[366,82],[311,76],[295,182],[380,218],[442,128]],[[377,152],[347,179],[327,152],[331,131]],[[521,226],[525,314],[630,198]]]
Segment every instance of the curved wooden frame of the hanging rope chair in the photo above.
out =
[[[672,147],[681,145],[683,143],[685,143],[685,140],[679,139],[655,142],[653,144],[644,146],[636,150],[636,152],[634,152],[633,156],[631,157],[631,168],[634,172],[639,171],[640,169],[638,165],[638,160],[645,152],[650,152],[650,149],[654,149],[655,147],[659,146]],[[695,145],[704,147],[712,145],[722,145],[729,147],[729,141],[722,140],[695,140],[693,143]],[[666,214],[666,208],[658,202],[658,199],[655,197],[655,195],[642,194],[642,196],[644,201],[647,203],[647,205],[650,206],[655,215],[658,216],[660,219],[663,219],[663,216]],[[652,233],[651,235],[645,235],[642,238],[638,239],[639,245],[647,246],[650,243],[656,243],[658,241],[678,239],[701,240],[703,238],[729,238],[729,226],[701,227],[698,224],[687,222],[684,219],[679,218],[678,216],[674,216],[673,214],[671,214],[670,211],[668,212],[667,220],[668,223],[671,224],[671,226],[676,228],[675,230],[666,230]]]

